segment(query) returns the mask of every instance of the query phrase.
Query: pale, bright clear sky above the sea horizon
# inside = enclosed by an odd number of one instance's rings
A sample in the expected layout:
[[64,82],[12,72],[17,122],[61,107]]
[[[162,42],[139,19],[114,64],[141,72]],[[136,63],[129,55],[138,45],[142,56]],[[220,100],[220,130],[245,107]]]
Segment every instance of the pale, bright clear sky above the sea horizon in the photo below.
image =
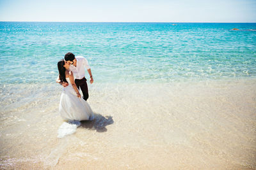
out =
[[0,21],[256,22],[256,0],[0,0]]

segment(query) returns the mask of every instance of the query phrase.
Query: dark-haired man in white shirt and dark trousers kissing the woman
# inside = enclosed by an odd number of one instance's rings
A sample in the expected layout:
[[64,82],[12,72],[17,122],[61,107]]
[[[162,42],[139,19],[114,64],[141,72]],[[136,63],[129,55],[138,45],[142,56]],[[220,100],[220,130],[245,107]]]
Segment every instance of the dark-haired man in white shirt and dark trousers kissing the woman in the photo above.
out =
[[[88,87],[87,87],[87,83],[86,83],[86,78],[84,77],[85,75],[85,71],[84,71],[84,67],[86,67],[88,73],[90,74],[90,83],[93,83],[93,77],[92,77],[92,71],[91,68],[88,64],[88,60],[86,60],[84,57],[82,56],[77,56],[75,57],[75,55],[73,53],[66,53],[65,55],[65,61],[67,61],[68,64],[70,64],[69,69],[70,71],[73,72],[75,79],[75,83],[77,86],[77,89],[79,90],[79,88],[82,90],[83,92],[83,99],[86,101],[89,97],[88,94]],[[65,87],[65,85],[63,85]]]

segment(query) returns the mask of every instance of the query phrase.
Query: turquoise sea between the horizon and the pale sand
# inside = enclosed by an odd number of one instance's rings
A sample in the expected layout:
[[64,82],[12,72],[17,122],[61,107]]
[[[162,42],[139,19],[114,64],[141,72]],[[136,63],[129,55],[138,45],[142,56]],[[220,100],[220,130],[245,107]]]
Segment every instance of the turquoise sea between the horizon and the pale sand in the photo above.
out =
[[0,22],[0,52],[1,85],[51,83],[67,52],[102,83],[252,77],[256,24]]

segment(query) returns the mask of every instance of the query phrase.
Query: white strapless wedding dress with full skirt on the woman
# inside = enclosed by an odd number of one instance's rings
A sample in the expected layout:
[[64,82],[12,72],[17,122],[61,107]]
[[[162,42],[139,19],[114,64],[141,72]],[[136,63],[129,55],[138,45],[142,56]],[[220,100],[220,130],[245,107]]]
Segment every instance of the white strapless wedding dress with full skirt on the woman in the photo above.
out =
[[66,80],[68,81],[68,86],[63,87],[59,106],[60,115],[63,120],[93,120],[94,115],[89,104],[84,101],[83,97],[77,97],[69,78],[66,78]]

